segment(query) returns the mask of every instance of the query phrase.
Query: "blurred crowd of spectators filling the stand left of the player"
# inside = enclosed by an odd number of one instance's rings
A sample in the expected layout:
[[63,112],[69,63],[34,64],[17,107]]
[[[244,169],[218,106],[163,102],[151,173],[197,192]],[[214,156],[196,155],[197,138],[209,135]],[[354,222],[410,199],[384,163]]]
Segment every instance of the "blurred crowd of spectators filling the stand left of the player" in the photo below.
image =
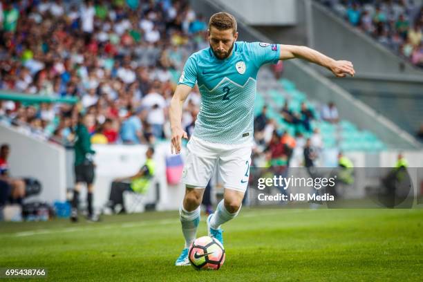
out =
[[[167,105],[187,55],[208,46],[187,1],[0,1],[0,89],[78,104],[0,101],[3,122],[70,144],[78,113],[94,143],[166,138]],[[198,112],[198,90],[185,125]]]

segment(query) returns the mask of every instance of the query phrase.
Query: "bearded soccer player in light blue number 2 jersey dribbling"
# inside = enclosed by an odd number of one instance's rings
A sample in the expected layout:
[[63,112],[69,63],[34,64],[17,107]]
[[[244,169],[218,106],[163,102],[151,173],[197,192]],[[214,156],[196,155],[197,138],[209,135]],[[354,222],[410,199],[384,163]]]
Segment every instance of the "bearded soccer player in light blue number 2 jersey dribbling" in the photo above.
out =
[[197,83],[202,96],[194,133],[187,144],[180,207],[185,247],[176,265],[189,265],[188,247],[196,238],[204,189],[217,166],[224,198],[207,218],[209,236],[223,243],[220,225],[238,215],[247,189],[253,143],[256,77],[263,64],[281,59],[306,59],[328,68],[337,77],[353,76],[353,64],[331,59],[304,46],[237,42],[236,19],[218,12],[209,20],[209,48],[192,54],[185,64],[169,109],[171,150],[180,153],[182,104]]

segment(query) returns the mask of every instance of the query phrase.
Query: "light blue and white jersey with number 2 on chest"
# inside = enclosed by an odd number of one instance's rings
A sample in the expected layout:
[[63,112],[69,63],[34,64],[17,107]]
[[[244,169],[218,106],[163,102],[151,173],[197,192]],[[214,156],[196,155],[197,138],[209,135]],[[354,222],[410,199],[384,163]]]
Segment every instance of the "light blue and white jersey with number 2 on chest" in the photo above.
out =
[[252,142],[259,68],[279,60],[279,45],[236,42],[232,55],[218,59],[211,48],[192,54],[178,84],[198,83],[202,103],[193,135],[208,142]]

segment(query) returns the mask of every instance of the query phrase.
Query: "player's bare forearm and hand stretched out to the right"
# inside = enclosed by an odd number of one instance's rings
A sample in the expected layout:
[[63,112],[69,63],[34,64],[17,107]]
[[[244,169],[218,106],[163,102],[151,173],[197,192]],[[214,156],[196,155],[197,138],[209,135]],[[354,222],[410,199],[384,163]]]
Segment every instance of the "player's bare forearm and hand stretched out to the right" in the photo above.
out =
[[279,59],[294,58],[305,59],[308,62],[324,66],[337,77],[346,77],[346,75],[353,77],[355,75],[353,63],[349,61],[337,61],[306,46],[281,45]]

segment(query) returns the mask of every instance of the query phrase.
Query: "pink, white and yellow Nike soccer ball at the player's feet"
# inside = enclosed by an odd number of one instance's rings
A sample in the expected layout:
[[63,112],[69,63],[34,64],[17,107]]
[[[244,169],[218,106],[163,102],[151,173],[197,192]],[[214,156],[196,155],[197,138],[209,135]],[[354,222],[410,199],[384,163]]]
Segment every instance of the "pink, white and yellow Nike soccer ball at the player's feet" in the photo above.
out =
[[203,236],[189,246],[188,258],[196,270],[218,270],[225,262],[225,249],[215,238]]

